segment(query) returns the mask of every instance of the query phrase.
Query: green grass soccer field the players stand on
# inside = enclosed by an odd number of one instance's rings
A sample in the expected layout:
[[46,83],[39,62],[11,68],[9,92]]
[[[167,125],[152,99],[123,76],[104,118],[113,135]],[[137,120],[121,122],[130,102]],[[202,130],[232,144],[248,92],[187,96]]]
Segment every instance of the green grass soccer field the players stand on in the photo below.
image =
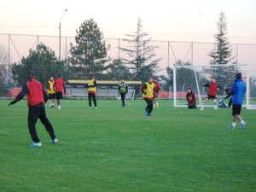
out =
[[[38,120],[43,146],[30,148],[26,101],[0,100],[0,191],[255,191],[256,110],[242,109],[247,129],[229,130],[230,108],[173,108],[146,102],[62,100],[47,108],[59,143]],[[56,104],[55,104],[56,105]]]

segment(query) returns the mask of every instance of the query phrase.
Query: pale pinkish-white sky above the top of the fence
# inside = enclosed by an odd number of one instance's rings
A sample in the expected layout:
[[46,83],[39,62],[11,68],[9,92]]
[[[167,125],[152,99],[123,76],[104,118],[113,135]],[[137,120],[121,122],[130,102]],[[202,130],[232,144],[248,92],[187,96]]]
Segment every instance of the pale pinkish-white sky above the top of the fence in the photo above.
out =
[[140,17],[154,40],[215,42],[221,10],[230,43],[256,44],[256,0],[0,0],[0,33],[58,36],[61,20],[61,35],[74,37],[93,18],[104,38],[125,38]]

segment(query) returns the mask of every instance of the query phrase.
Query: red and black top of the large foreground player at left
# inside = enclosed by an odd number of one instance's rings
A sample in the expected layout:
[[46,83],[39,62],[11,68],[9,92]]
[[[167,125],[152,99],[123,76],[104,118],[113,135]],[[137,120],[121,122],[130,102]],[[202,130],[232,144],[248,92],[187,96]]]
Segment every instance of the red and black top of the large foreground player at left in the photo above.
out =
[[32,78],[23,85],[20,94],[16,96],[15,101],[20,101],[24,96],[27,96],[27,105],[35,106],[39,103],[47,102],[48,95],[44,90],[43,84]]

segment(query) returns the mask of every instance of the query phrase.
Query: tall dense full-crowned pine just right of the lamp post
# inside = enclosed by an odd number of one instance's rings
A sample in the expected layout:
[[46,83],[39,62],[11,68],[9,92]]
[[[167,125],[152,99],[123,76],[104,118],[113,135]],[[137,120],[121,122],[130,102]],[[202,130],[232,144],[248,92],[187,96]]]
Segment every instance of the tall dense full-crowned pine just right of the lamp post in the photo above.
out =
[[84,78],[89,74],[99,78],[105,69],[104,64],[109,61],[103,33],[93,19],[85,20],[76,32],[76,44],[71,44],[68,60],[74,72],[82,73]]

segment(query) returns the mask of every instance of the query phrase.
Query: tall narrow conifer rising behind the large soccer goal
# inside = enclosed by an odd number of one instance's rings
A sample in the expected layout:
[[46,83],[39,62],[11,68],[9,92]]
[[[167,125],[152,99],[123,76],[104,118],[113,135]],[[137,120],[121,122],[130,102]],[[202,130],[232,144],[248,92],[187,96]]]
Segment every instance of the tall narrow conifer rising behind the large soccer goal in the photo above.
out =
[[[208,55],[211,57],[210,65],[225,65],[232,63],[234,56],[231,55],[229,39],[227,35],[227,21],[223,11],[219,14],[217,22],[218,34],[215,35],[217,41],[217,48],[213,49]],[[234,63],[234,62],[233,62]],[[212,67],[212,73],[218,74],[214,76],[218,82],[226,82],[230,84],[234,79],[234,74],[239,71],[236,67]],[[224,86],[224,84],[222,84]]]

